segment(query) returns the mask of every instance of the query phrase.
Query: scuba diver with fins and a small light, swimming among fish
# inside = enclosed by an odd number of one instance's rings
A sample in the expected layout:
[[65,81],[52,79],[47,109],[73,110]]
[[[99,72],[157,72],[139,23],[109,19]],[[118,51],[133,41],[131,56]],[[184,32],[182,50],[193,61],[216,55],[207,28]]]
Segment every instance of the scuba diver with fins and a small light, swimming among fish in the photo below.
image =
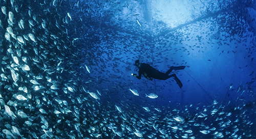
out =
[[149,80],[152,80],[152,78],[165,80],[170,77],[174,77],[179,87],[181,88],[183,86],[180,79],[176,76],[176,74],[171,74],[171,75],[168,75],[168,74],[172,72],[172,70],[182,70],[185,68],[185,66],[179,66],[179,67],[172,66],[166,73],[162,73],[148,64],[140,63],[139,60],[135,61],[135,66],[139,69],[139,75],[133,74],[133,73],[132,75],[137,77],[138,79],[141,79],[141,74],[143,74],[143,76]]

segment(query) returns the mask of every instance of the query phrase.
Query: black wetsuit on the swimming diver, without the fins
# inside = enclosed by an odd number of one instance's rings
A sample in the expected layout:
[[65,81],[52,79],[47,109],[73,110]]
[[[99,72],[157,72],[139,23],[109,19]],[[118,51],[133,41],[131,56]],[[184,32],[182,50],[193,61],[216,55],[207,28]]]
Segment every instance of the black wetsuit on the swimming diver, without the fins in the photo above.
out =
[[160,72],[157,69],[151,67],[148,64],[145,63],[140,63],[140,67],[139,67],[139,75],[136,76],[138,79],[141,79],[141,74],[146,77],[147,79],[152,80],[152,78],[155,79],[161,79],[161,80],[165,80],[167,78],[176,76],[175,74],[171,74],[168,75],[170,72],[172,72],[172,68],[170,68],[166,73]]

